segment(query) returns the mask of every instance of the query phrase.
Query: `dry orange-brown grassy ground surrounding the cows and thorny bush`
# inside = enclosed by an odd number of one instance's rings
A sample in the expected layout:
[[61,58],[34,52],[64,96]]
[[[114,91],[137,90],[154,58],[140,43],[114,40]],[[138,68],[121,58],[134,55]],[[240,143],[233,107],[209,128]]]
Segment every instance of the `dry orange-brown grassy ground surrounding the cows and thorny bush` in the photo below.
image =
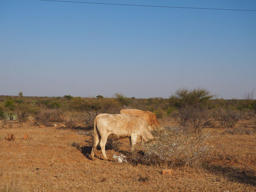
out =
[[[176,125],[172,119],[160,120],[164,126]],[[250,121],[241,121],[248,129]],[[197,167],[172,168],[162,175],[161,166],[119,164],[102,160],[100,150],[95,161],[87,153],[90,136],[77,130],[13,124],[0,129],[0,191],[255,191],[256,135],[221,135],[224,128],[205,128],[218,138],[211,140],[212,155]],[[12,132],[14,142],[4,140]],[[24,134],[33,139],[22,140]],[[71,146],[79,143],[81,150]],[[129,152],[129,139],[120,140],[119,150]],[[68,145],[69,143],[69,145]],[[75,144],[73,144],[75,145]],[[105,178],[103,182],[103,178]]]

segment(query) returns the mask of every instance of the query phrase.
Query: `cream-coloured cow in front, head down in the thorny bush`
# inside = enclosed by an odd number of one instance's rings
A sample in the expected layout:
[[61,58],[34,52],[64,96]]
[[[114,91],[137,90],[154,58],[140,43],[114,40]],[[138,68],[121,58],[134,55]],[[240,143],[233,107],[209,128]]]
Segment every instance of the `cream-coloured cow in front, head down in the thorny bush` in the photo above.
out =
[[94,159],[94,152],[99,140],[102,154],[105,159],[108,159],[105,145],[110,134],[114,134],[115,139],[130,138],[132,148],[138,141],[144,143],[153,139],[147,123],[139,116],[99,114],[94,120],[92,160]]

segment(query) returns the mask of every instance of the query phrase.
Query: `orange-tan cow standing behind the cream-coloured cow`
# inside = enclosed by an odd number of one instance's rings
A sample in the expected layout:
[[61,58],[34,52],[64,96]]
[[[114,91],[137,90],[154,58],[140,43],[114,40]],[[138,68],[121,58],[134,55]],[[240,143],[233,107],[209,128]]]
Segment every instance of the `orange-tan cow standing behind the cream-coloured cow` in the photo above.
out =
[[156,118],[156,114],[150,112],[150,111],[142,111],[139,109],[121,109],[120,114],[124,114],[124,115],[136,115],[141,117],[142,119],[144,119],[147,123],[147,125],[149,126],[148,129],[150,131],[161,127],[157,118]]

